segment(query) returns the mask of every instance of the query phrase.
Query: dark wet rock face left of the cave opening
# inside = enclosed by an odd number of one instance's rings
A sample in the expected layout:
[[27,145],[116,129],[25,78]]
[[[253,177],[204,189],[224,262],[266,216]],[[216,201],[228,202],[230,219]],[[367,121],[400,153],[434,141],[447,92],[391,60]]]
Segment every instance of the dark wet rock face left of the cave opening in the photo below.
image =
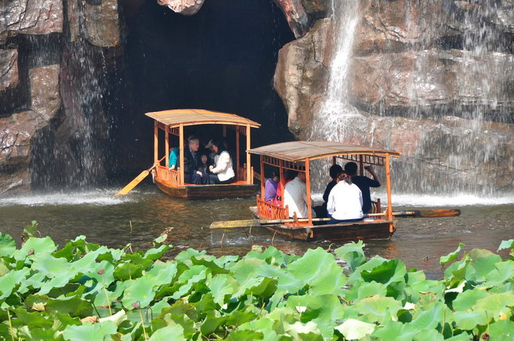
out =
[[[96,123],[90,126],[97,128],[100,137],[92,134],[89,141],[106,138],[99,79],[123,66],[115,62],[123,51],[118,1],[70,0],[66,4],[67,21],[62,1],[1,4],[0,193],[41,187],[51,176],[71,178],[66,174],[70,166],[81,175],[87,173],[84,162],[64,161],[69,155],[60,154],[59,148],[75,146],[78,158],[84,158],[84,153],[101,154],[101,143],[84,151],[76,136],[69,134],[88,126],[84,121],[92,119]],[[74,86],[64,86],[66,79],[73,79]],[[74,100],[63,101],[71,96]],[[94,118],[93,111],[99,118]],[[75,124],[64,128],[65,122]]]

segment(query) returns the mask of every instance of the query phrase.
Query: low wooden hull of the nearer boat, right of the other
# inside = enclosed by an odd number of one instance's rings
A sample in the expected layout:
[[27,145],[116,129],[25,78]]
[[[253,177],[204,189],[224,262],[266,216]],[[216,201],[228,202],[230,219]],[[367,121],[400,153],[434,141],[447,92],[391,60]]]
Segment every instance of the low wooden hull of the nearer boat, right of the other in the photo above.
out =
[[[251,208],[251,212],[258,219],[265,219],[256,213],[256,208]],[[390,231],[390,225],[393,225]],[[294,227],[292,225],[264,225],[273,233],[284,235],[291,239],[316,241],[356,241],[356,240],[385,240],[390,239],[395,232],[396,222],[393,220],[370,220],[355,223],[339,223],[333,225],[308,225]]]

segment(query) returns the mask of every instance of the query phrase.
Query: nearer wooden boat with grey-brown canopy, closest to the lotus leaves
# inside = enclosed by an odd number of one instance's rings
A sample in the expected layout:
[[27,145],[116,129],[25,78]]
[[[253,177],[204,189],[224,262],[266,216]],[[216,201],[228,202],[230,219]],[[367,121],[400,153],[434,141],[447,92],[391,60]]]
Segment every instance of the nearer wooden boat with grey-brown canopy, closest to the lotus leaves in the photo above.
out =
[[[311,203],[308,203],[308,218],[293,218],[292,222],[263,224],[263,227],[273,233],[285,235],[297,240],[370,240],[389,239],[395,232],[396,221],[393,220],[391,206],[390,158],[398,157],[400,153],[386,151],[380,148],[355,146],[348,143],[326,141],[293,141],[276,143],[269,146],[253,148],[248,151],[261,158],[261,174],[264,166],[271,165],[280,171],[283,186],[284,170],[298,170],[306,173],[307,197],[311,198],[311,161],[321,158],[332,158],[332,163],[338,161],[353,161],[358,164],[361,175],[364,166],[373,165],[385,168],[385,187],[387,190],[387,208],[381,213],[381,202],[372,202],[372,212],[366,220],[354,223],[338,223],[334,225],[315,225],[312,217]],[[261,181],[261,193],[264,193],[264,180]],[[288,207],[274,205],[257,195],[257,205],[251,208],[253,215],[259,220],[290,220]],[[304,221],[306,220],[306,221]]]

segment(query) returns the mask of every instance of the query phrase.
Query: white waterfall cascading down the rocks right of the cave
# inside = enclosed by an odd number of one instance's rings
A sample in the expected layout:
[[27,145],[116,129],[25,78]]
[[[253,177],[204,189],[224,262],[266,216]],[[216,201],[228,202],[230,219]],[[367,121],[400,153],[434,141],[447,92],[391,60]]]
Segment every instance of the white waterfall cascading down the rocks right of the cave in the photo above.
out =
[[[400,151],[393,166],[396,193],[511,190],[505,175],[513,167],[513,100],[504,74],[514,63],[491,19],[503,9],[497,1],[463,2],[373,3],[368,16],[383,11],[375,29],[388,40],[353,51],[358,30],[373,18],[363,17],[360,1],[334,0],[330,79],[309,139]],[[400,13],[391,14],[393,6]],[[328,173],[322,166],[323,176],[314,179],[318,191]]]

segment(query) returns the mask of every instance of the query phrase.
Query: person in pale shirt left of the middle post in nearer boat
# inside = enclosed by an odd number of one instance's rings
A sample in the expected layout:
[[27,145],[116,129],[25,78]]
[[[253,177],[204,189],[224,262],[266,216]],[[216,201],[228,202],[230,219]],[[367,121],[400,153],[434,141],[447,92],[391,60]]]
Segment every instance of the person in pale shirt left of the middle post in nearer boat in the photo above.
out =
[[[284,187],[283,205],[289,207],[290,217],[293,217],[296,213],[297,218],[308,218],[307,200],[311,200],[312,204],[313,200],[307,198],[306,173],[298,172],[296,178],[289,181]],[[312,216],[313,218],[316,217],[314,210]]]

